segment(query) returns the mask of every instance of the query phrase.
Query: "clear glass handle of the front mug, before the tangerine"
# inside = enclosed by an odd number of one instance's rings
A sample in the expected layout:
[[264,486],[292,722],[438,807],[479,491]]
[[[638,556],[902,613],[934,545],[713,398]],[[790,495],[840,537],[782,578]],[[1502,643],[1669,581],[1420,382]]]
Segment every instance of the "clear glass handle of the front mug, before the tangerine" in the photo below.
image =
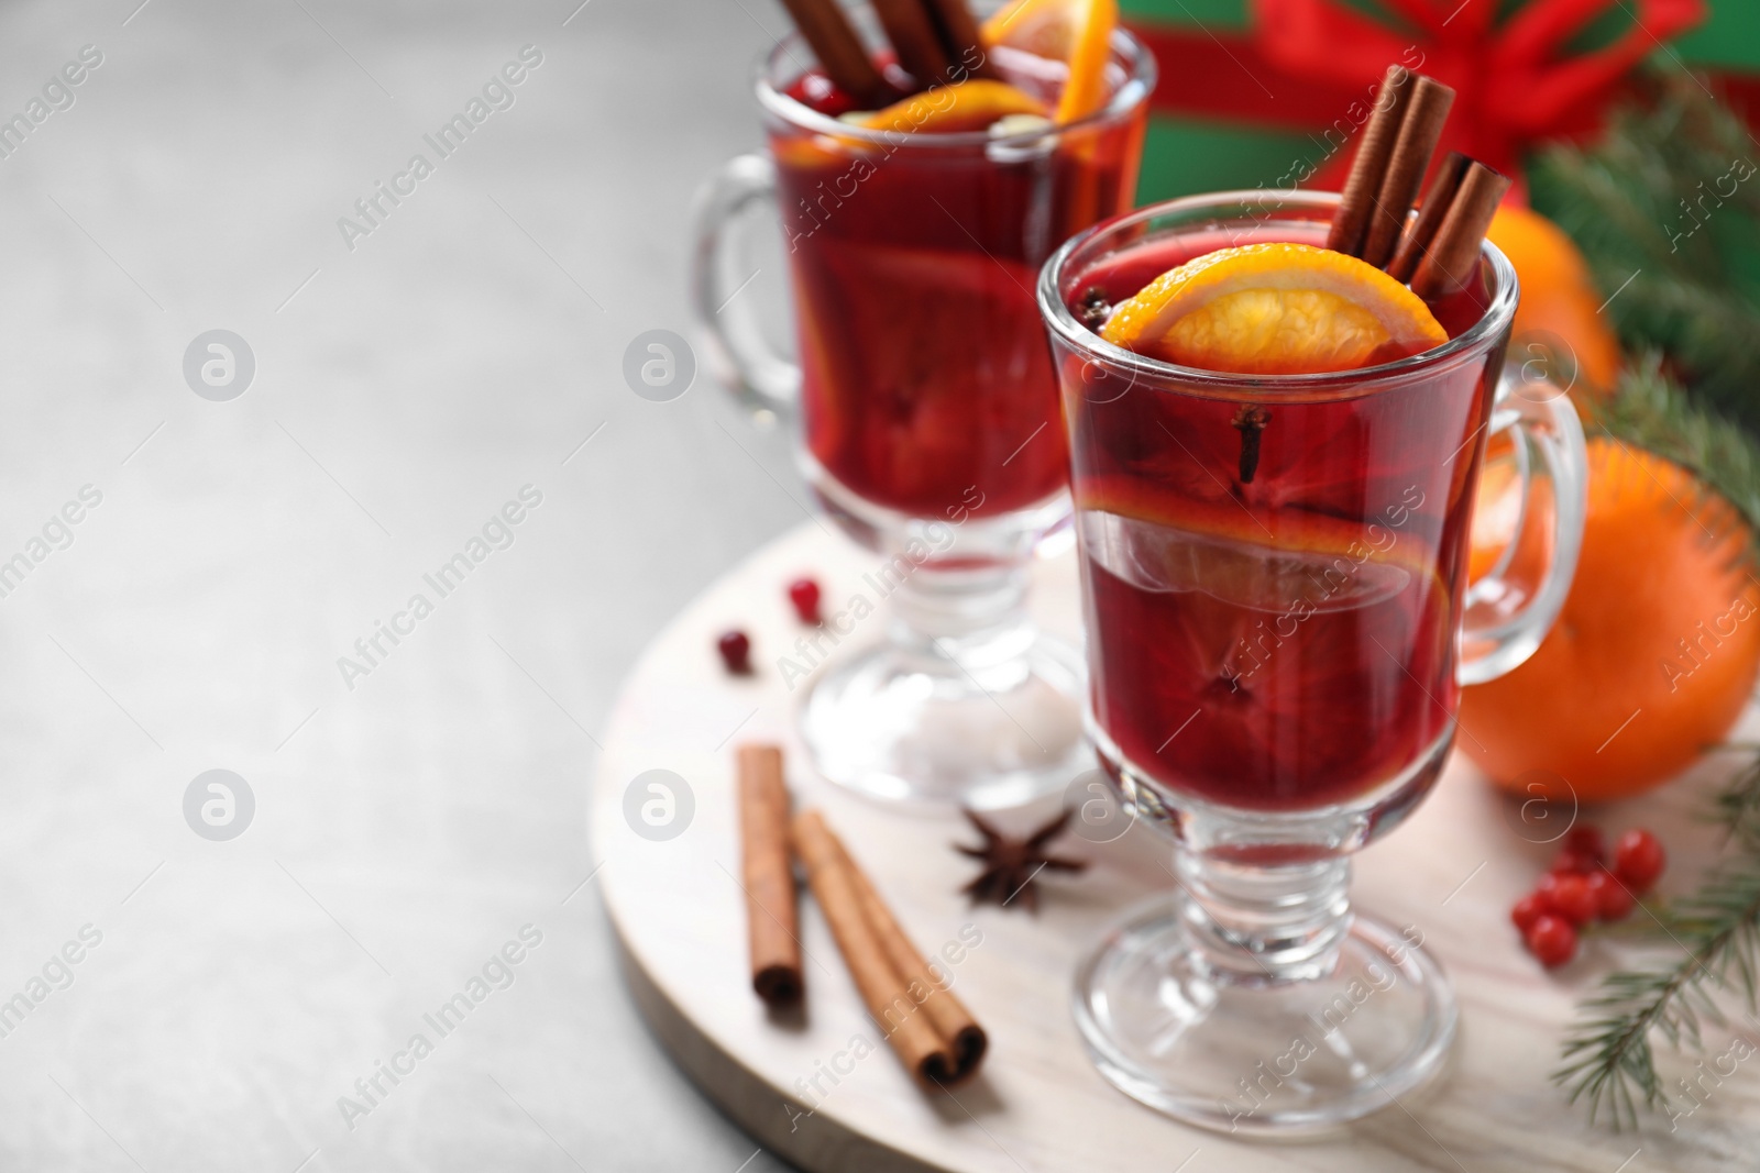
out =
[[[1508,547],[1489,573],[1466,589],[1461,624],[1461,684],[1484,684],[1528,659],[1552,630],[1570,594],[1582,547],[1588,455],[1570,396],[1526,368],[1508,364],[1491,408],[1491,443],[1508,436],[1515,484],[1484,508],[1515,508]],[[1485,473],[1480,471],[1480,492]],[[1475,515],[1475,526],[1478,524]]]

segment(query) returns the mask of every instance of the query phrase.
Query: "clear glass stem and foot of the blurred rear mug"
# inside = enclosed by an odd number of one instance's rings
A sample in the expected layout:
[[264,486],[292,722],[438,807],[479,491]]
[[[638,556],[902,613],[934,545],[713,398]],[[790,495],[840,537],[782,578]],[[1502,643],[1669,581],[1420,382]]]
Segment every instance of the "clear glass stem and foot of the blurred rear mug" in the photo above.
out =
[[891,802],[973,809],[1031,802],[1081,774],[1093,760],[1081,652],[1045,637],[1026,608],[1047,521],[1010,514],[956,529],[864,519],[820,470],[810,466],[810,480],[882,552],[862,593],[887,612],[884,638],[827,665],[803,703],[818,772]]

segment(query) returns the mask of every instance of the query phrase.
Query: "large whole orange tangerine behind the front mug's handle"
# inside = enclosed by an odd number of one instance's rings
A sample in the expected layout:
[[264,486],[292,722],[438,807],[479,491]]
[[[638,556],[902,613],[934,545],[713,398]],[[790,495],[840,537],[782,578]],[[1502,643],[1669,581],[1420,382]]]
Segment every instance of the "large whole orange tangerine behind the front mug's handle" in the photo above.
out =
[[[1591,440],[1565,608],[1526,663],[1461,691],[1456,744],[1529,797],[1545,776],[1603,802],[1681,772],[1728,733],[1760,672],[1751,540],[1741,514],[1684,468]],[[1510,577],[1533,582],[1544,557],[1519,549]],[[1496,559],[1475,550],[1473,561]]]

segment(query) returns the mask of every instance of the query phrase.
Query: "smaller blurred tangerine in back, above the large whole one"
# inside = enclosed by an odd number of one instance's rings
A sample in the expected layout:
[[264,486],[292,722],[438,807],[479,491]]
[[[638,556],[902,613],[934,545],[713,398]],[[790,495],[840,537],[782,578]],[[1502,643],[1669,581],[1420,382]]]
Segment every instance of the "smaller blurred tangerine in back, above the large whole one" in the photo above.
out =
[[1510,355],[1540,359],[1556,338],[1575,355],[1579,385],[1588,383],[1591,392],[1610,389],[1619,376],[1619,339],[1602,315],[1605,295],[1577,243],[1540,213],[1514,204],[1498,208],[1485,236],[1510,259],[1522,285]]

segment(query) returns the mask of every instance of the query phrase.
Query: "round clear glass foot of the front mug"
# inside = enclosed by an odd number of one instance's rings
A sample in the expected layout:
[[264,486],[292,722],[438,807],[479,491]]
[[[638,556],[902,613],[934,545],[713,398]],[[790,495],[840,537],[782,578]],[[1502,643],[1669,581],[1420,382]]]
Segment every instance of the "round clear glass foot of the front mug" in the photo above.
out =
[[1441,1069],[1454,990],[1401,932],[1359,914],[1327,976],[1239,983],[1204,965],[1184,907],[1176,895],[1139,911],[1075,976],[1075,1024],[1125,1094],[1220,1133],[1301,1136]]

